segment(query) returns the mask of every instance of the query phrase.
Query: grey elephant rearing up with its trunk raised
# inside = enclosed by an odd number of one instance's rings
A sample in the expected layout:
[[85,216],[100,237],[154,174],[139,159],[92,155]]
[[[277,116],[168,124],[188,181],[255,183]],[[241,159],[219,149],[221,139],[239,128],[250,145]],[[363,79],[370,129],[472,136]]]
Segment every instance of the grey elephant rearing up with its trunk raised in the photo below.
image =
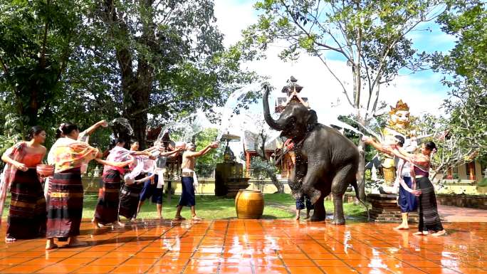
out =
[[294,142],[296,162],[288,178],[293,197],[298,199],[308,194],[315,207],[311,221],[323,221],[326,218],[324,199],[331,193],[332,223],[345,224],[342,198],[349,185],[359,197],[357,146],[332,127],[319,124],[316,112],[300,102],[289,102],[278,120],[273,120],[268,104],[271,89],[263,88],[264,119],[273,130],[281,131],[281,136]]

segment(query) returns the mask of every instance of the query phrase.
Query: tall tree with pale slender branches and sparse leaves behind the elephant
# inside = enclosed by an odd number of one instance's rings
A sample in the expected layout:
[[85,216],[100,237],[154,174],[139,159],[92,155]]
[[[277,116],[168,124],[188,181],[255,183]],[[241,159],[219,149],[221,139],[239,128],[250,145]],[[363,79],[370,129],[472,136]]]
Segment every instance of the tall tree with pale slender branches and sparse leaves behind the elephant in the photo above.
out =
[[[281,52],[285,60],[298,58],[303,52],[322,60],[355,108],[358,122],[367,126],[375,115],[381,86],[390,83],[399,70],[421,69],[422,54],[416,54],[407,33],[441,14],[444,9],[440,4],[435,0],[258,1],[258,23],[244,34],[247,46],[261,50],[274,41],[287,41],[288,46]],[[352,89],[332,71],[328,53],[350,66]],[[359,146],[363,147],[361,141]],[[362,177],[364,166],[362,153]],[[363,186],[361,199],[365,198]]]

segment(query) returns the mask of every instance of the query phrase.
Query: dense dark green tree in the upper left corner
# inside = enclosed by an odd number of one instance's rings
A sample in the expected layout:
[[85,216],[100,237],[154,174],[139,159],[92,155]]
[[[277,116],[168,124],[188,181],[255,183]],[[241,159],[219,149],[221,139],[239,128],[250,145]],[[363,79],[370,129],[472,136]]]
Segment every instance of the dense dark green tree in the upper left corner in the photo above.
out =
[[77,0],[1,1],[0,97],[19,132],[50,125],[63,103],[84,6]]

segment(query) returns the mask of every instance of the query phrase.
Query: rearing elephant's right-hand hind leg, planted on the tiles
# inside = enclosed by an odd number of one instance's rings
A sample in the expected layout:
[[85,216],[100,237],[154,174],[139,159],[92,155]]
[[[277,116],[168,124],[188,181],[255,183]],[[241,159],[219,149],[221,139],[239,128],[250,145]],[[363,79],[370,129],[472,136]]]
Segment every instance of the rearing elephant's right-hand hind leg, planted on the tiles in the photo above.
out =
[[333,195],[333,223],[345,224],[345,215],[343,214],[343,194],[347,187],[355,180],[357,168],[353,165],[342,167],[335,174],[331,184],[331,193]]

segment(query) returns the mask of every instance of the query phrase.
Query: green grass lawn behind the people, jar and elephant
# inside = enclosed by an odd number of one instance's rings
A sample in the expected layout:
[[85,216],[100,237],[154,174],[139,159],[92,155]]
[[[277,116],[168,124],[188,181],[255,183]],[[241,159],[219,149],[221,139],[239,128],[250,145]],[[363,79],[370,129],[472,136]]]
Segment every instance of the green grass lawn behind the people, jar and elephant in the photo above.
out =
[[[290,194],[264,194],[266,206],[263,211],[263,218],[293,218],[295,201]],[[83,218],[93,218],[95,206],[98,201],[98,194],[85,194],[83,206]],[[179,195],[172,195],[170,203],[167,196],[164,196],[162,204],[162,216],[173,218],[176,212],[176,205]],[[4,218],[9,214],[10,198],[7,198],[4,208]],[[325,201],[325,208],[328,214],[333,212],[331,201]],[[234,199],[225,199],[211,195],[197,195],[196,210],[198,216],[206,219],[236,218]],[[365,216],[365,208],[353,203],[344,204],[345,216],[362,218]],[[184,207],[182,216],[190,217],[189,207]],[[139,218],[156,218],[156,205],[146,201],[139,214]],[[122,220],[123,221],[123,220]]]

